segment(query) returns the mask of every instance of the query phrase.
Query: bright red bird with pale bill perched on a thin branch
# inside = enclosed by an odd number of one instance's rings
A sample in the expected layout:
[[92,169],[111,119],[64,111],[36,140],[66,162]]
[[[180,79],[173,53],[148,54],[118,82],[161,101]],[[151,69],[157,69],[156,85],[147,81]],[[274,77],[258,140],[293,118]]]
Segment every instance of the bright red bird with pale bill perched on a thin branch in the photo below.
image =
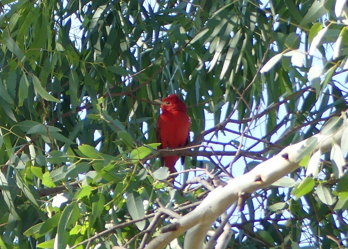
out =
[[[161,104],[162,109],[156,125],[156,140],[161,143],[158,148],[179,148],[187,145],[190,142],[190,118],[186,114],[185,103],[176,94],[155,101]],[[171,173],[175,172],[174,165],[178,159],[179,156],[176,155],[160,158],[162,166],[168,167]],[[185,156],[182,156],[182,165],[184,160]]]

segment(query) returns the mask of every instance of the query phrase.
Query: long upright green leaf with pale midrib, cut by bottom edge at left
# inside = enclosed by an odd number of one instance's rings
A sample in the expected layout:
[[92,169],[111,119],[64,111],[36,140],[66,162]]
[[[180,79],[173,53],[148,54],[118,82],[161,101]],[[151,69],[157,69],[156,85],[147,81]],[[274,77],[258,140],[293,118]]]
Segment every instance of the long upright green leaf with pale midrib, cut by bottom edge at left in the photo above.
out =
[[79,206],[76,201],[67,205],[59,219],[54,246],[56,249],[65,249],[69,241],[69,232],[80,215]]

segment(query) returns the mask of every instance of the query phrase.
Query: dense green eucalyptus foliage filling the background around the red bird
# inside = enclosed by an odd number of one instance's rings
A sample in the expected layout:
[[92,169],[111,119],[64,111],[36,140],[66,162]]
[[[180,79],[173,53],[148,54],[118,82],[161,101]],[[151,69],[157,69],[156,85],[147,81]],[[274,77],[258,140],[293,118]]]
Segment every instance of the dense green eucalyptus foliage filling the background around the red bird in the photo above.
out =
[[[144,248],[228,177],[341,129],[345,2],[1,1],[0,247]],[[171,93],[191,147],[155,151],[153,100]],[[347,137],[309,143],[301,168],[216,217],[207,248],[224,221],[225,248],[347,246]],[[175,184],[154,156],[171,153],[187,155]]]

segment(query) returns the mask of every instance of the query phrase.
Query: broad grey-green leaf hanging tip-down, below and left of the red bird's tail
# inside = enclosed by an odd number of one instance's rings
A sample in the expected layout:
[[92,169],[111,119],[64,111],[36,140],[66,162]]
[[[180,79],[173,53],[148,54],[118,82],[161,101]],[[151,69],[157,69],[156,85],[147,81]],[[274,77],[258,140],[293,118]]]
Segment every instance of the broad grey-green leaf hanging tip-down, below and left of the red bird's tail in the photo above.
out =
[[[137,192],[127,193],[126,204],[128,212],[133,220],[140,219],[145,216],[143,199]],[[140,222],[136,222],[135,225],[139,228],[139,230],[142,231],[145,228],[146,221],[142,220]]]

